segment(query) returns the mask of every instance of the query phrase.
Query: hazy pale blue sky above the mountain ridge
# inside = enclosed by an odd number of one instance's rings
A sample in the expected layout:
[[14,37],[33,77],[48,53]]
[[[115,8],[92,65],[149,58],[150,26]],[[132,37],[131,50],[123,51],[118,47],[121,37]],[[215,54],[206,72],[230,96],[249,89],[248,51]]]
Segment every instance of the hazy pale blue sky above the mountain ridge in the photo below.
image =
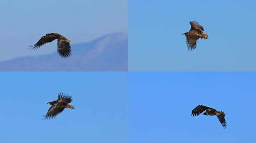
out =
[[127,32],[127,0],[3,0],[0,4],[0,61],[57,52],[57,42],[40,50],[28,46],[57,32],[75,43]]

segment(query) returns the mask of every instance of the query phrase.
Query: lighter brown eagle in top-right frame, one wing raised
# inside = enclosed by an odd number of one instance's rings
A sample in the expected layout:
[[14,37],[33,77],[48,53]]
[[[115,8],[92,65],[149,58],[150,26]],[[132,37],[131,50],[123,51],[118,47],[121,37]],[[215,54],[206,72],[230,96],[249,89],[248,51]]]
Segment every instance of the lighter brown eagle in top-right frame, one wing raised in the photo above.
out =
[[204,31],[203,26],[201,26],[198,22],[191,21],[189,22],[191,25],[191,29],[189,32],[186,32],[182,35],[186,36],[186,42],[187,46],[189,48],[189,51],[192,51],[196,47],[196,41],[201,39],[208,39],[208,35]]

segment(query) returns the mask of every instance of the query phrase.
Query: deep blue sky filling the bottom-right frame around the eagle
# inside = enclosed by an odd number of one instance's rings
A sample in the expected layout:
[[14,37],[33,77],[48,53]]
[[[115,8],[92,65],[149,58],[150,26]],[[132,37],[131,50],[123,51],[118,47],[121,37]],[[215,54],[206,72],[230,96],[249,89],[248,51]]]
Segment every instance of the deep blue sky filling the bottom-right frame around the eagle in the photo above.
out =
[[[255,143],[256,73],[129,72],[130,143]],[[191,116],[197,105],[225,112]]]

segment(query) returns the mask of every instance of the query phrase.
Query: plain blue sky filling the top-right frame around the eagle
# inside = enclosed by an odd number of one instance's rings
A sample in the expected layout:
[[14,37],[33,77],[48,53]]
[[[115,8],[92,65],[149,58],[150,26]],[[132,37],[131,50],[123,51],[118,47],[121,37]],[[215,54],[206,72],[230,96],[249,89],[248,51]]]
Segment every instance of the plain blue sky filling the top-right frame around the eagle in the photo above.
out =
[[[129,71],[256,71],[255,0],[129,0]],[[190,21],[209,38],[188,51]]]

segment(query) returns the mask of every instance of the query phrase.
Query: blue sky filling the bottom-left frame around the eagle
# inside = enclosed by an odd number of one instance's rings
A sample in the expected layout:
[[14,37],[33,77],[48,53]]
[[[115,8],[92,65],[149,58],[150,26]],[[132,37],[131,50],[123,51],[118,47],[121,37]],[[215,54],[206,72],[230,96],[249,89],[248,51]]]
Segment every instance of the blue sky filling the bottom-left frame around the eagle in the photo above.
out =
[[[1,143],[127,143],[126,72],[1,72]],[[74,109],[42,120],[58,93]]]

